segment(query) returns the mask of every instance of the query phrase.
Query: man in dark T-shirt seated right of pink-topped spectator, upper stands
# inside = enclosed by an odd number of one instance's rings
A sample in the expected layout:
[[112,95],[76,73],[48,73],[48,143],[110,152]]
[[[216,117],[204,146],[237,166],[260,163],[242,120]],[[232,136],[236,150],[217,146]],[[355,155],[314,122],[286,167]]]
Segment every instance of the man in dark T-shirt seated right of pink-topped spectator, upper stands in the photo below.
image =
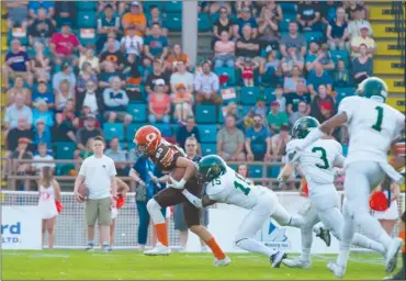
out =
[[244,25],[243,35],[236,43],[237,63],[244,61],[247,57],[257,63],[261,63],[263,58],[260,57],[260,48],[257,40],[251,35],[252,29],[249,25]]

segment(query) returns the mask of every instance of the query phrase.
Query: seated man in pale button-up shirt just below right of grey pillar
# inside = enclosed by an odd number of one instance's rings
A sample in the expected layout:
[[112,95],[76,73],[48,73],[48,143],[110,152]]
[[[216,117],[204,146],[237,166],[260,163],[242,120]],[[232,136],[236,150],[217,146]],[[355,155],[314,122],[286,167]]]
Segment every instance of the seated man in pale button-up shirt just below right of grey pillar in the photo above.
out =
[[194,90],[196,104],[221,104],[222,98],[218,94],[219,81],[218,76],[211,69],[212,64],[206,60],[202,64],[202,71],[194,76]]

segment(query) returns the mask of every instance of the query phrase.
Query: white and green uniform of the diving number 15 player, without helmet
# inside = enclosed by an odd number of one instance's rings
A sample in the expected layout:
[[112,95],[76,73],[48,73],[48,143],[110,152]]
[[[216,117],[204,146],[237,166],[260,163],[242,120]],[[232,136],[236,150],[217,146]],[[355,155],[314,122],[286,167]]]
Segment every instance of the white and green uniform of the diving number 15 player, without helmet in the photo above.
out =
[[[250,210],[235,237],[237,246],[250,251],[271,255],[269,254],[270,249],[263,245],[264,249],[261,249],[263,251],[253,250],[252,247],[245,247],[244,245],[245,243],[258,244],[253,241],[252,237],[270,216],[281,225],[290,224],[300,227],[303,223],[301,218],[292,217],[284,210],[273,191],[261,186],[248,183],[244,177],[229,167],[227,167],[224,175],[206,184],[206,194],[211,200],[219,203],[233,204]],[[259,245],[255,246],[260,247]]]

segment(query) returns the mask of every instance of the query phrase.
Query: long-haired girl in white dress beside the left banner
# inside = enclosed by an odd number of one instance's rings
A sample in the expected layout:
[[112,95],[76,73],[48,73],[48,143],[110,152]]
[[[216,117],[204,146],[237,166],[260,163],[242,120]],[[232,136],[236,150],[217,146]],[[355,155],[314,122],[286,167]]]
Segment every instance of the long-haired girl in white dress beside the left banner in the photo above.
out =
[[38,209],[42,218],[42,246],[44,247],[45,234],[48,233],[48,248],[54,248],[54,226],[58,211],[55,200],[60,201],[60,188],[58,181],[54,178],[53,168],[45,166],[41,169],[38,191]]

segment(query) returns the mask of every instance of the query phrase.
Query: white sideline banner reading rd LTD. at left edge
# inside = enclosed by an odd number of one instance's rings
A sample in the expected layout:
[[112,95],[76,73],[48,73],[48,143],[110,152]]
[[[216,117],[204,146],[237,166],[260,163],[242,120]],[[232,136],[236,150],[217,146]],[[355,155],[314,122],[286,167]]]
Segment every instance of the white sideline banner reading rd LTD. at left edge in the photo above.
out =
[[1,248],[41,249],[42,221],[37,206],[1,207]]

